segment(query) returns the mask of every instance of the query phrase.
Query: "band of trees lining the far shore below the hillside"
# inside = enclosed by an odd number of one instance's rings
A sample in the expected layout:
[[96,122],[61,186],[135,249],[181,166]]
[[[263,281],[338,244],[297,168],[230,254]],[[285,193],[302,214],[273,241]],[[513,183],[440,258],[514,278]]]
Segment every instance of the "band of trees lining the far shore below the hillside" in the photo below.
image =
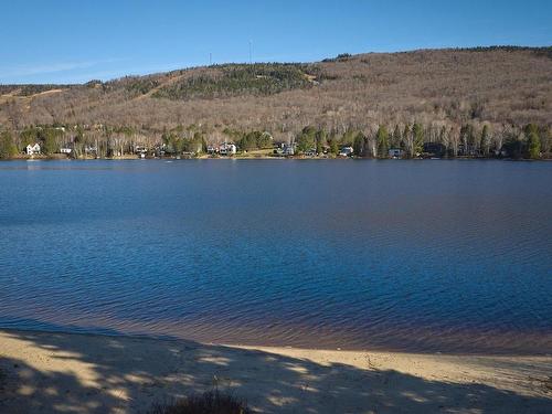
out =
[[[97,157],[117,157],[134,153],[137,148],[162,148],[166,153],[206,152],[208,145],[234,142],[238,150],[269,149],[275,139],[267,130],[240,130],[179,125],[162,131],[141,130],[119,126],[32,126],[0,134],[0,158],[13,158],[31,144],[40,144],[44,155],[71,148],[79,158],[93,153]],[[505,126],[492,130],[489,125],[477,127],[422,125],[378,125],[370,128],[346,128],[344,132],[323,127],[306,126],[288,136],[296,153],[338,155],[344,146],[353,148],[357,157],[389,158],[391,149],[399,149],[403,158],[427,155],[437,157],[508,157],[539,159],[550,157],[552,136],[550,127],[528,124],[522,127]]]

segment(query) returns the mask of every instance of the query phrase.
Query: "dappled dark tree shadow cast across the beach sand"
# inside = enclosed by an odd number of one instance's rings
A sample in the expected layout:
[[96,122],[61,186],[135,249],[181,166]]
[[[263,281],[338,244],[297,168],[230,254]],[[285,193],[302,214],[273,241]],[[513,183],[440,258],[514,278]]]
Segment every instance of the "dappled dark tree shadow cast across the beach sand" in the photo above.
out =
[[[545,396],[428,381],[368,363],[367,369],[319,364],[182,340],[0,333],[24,341],[21,352],[31,361],[6,358],[0,349],[0,413],[145,413],[155,401],[213,386],[262,413],[552,412]],[[76,363],[84,367],[78,375]]]

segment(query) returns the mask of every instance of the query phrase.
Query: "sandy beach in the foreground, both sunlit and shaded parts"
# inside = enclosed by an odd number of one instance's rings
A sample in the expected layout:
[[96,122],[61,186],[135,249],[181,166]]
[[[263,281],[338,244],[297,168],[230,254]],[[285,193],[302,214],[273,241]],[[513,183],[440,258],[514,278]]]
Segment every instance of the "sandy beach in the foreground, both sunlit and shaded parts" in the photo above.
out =
[[217,388],[262,413],[552,413],[552,357],[0,331],[0,413],[145,413]]

